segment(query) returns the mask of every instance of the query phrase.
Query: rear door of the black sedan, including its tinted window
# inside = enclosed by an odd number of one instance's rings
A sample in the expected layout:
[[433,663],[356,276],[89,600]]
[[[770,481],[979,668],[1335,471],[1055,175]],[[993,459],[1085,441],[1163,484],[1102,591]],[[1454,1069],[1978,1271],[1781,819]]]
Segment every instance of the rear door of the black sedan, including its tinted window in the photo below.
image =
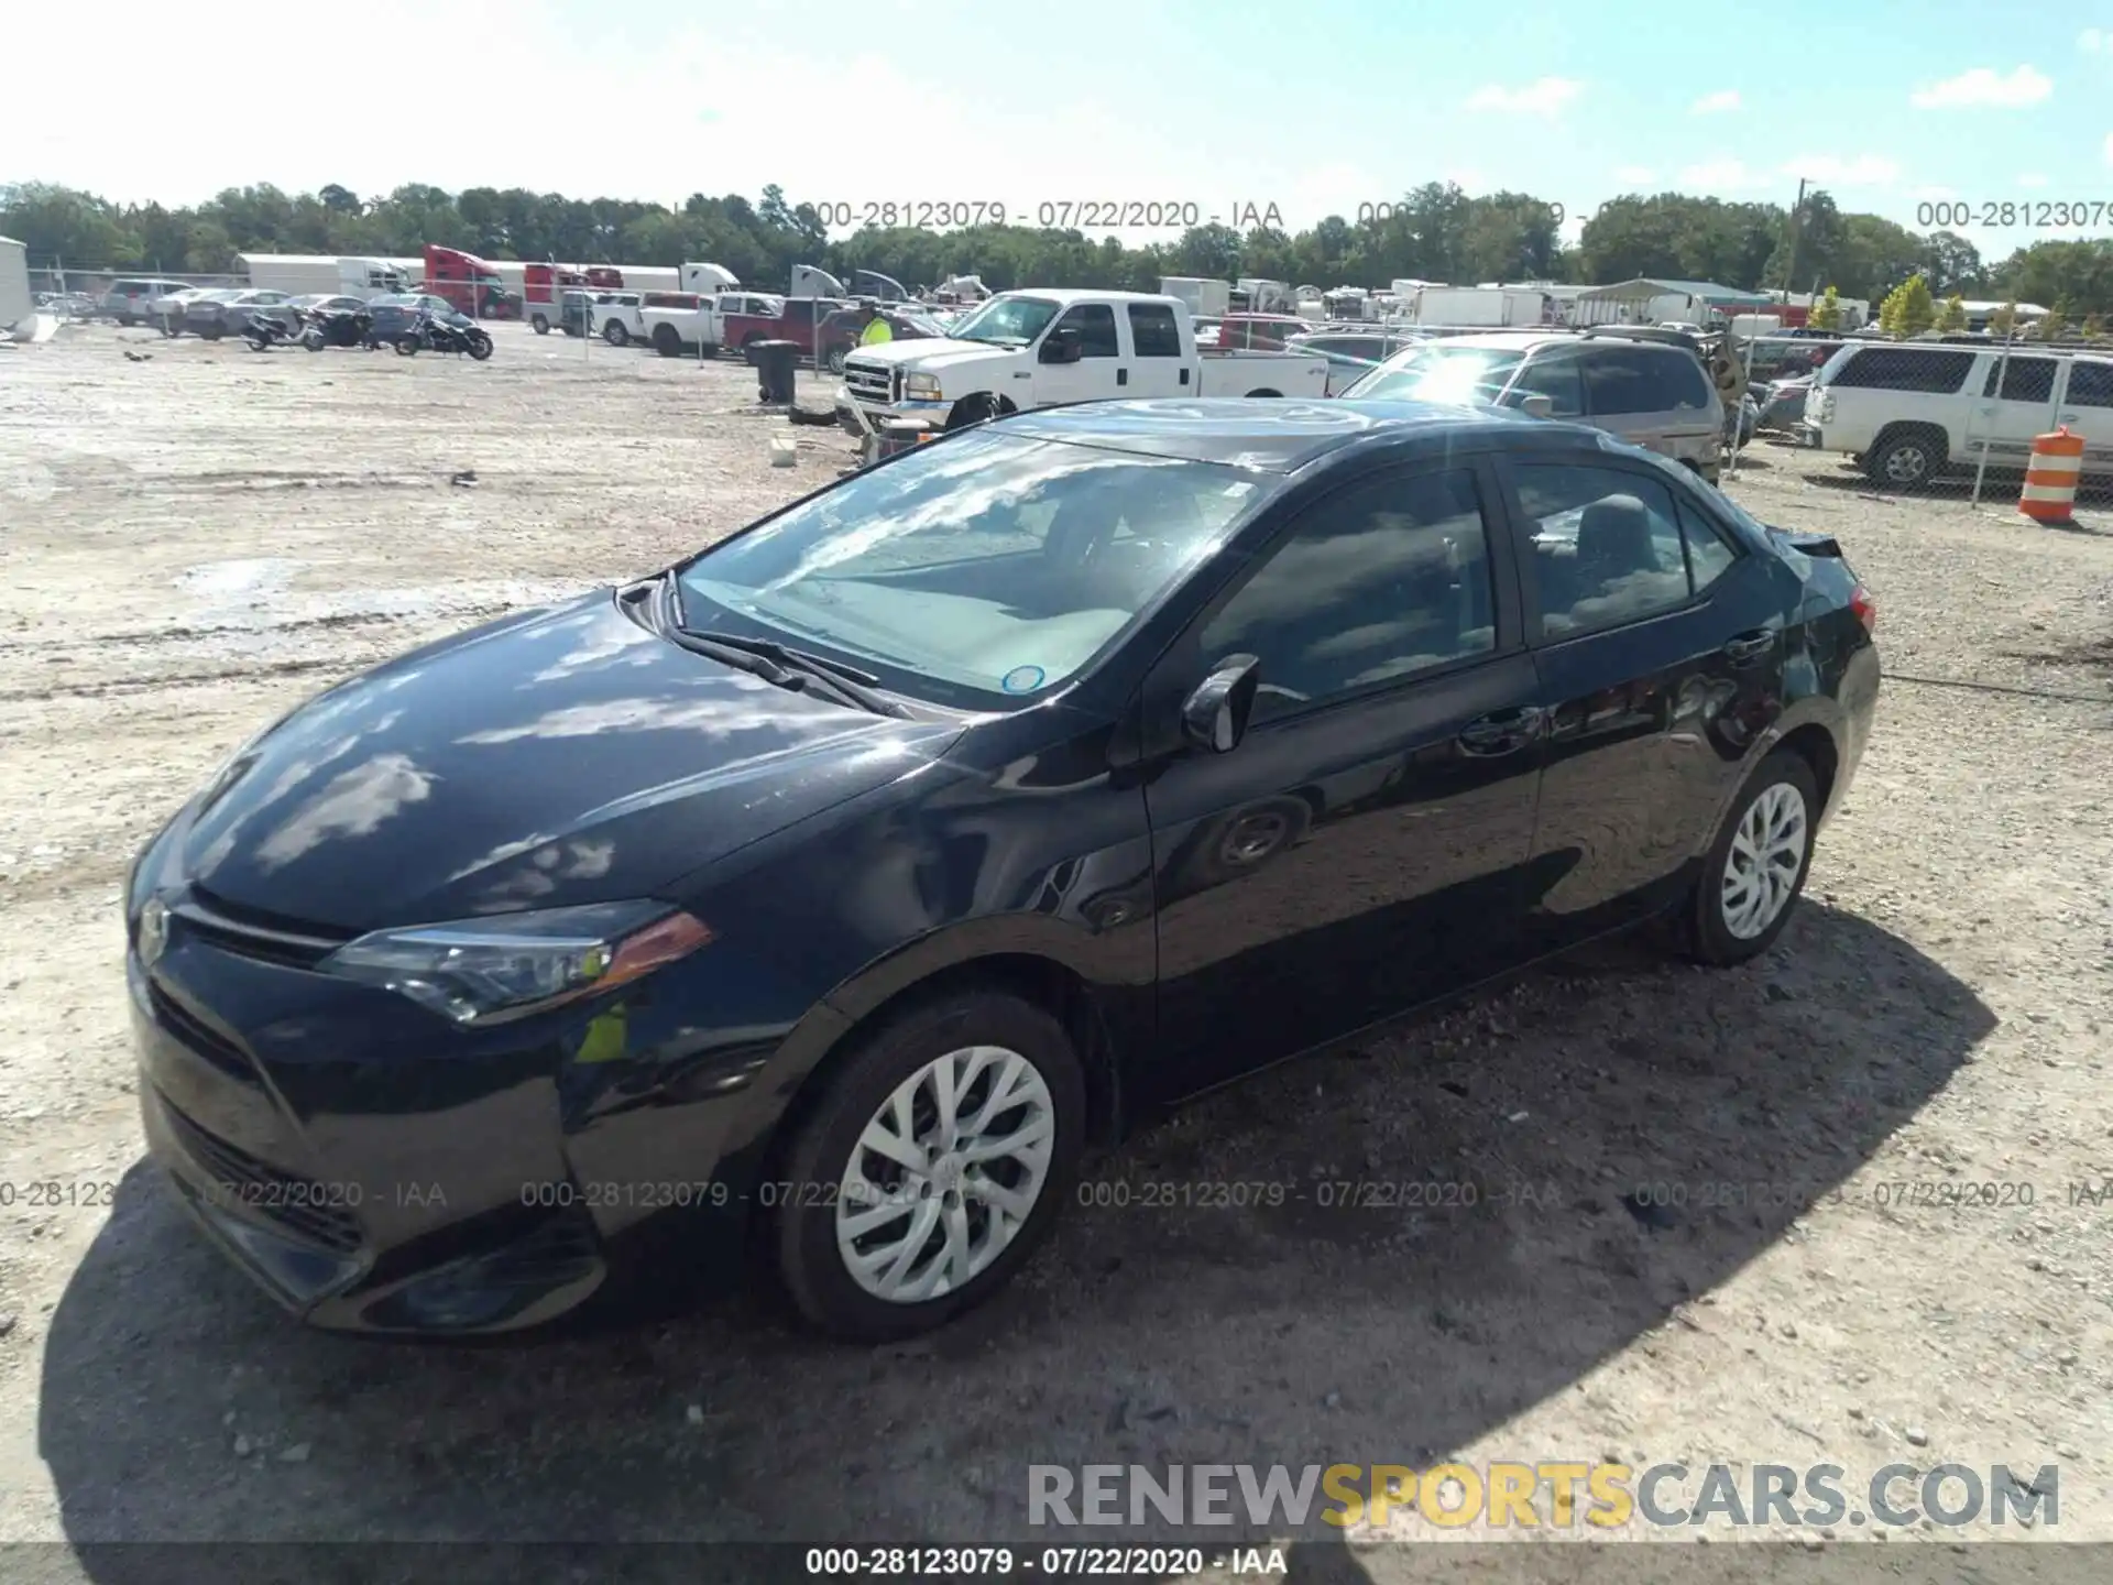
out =
[[1509,459],[1547,712],[1532,924],[1545,951],[1671,900],[1781,712],[1785,592],[1671,469]]

